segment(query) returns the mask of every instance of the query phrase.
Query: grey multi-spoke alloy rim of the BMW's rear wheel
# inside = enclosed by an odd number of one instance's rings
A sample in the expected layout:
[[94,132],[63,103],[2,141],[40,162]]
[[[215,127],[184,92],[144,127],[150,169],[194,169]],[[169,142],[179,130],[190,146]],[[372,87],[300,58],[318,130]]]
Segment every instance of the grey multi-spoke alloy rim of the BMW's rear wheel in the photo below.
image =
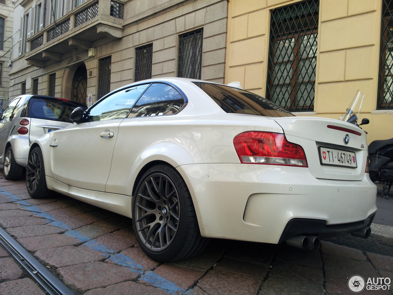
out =
[[136,194],[135,225],[147,249],[163,251],[171,245],[180,222],[179,196],[173,182],[163,173],[145,179]]

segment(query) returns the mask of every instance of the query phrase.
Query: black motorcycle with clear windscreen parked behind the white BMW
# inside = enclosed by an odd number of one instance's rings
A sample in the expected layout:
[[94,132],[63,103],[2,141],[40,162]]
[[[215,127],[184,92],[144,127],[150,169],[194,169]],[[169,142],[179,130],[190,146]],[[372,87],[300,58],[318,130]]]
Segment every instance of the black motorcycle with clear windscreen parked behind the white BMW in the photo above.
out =
[[[351,106],[347,109],[347,113],[340,119],[352,123],[356,126],[368,124],[369,119],[365,118],[362,120],[362,123],[360,123],[359,125],[357,124],[360,114],[360,108],[362,108],[363,99],[364,94],[358,91]],[[385,140],[375,140],[371,142],[368,147],[368,152],[370,161],[370,179],[373,182],[378,181],[379,183],[384,184],[381,196],[383,198],[389,199],[388,194],[393,184],[393,138]]]

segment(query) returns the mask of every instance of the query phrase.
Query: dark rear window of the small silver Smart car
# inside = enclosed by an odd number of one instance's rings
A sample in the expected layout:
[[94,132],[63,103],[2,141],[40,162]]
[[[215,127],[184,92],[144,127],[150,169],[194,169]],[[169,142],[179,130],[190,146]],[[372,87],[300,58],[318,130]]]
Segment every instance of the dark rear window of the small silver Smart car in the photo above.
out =
[[68,101],[32,98],[27,117],[72,123],[70,115],[78,105]]

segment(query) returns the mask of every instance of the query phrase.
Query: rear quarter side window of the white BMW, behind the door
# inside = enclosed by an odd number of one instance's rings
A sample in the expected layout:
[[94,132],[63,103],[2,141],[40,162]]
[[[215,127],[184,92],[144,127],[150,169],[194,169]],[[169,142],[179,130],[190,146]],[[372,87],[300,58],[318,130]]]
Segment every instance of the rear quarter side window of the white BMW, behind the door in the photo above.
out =
[[147,117],[176,114],[184,99],[172,86],[153,83],[132,108],[128,117]]

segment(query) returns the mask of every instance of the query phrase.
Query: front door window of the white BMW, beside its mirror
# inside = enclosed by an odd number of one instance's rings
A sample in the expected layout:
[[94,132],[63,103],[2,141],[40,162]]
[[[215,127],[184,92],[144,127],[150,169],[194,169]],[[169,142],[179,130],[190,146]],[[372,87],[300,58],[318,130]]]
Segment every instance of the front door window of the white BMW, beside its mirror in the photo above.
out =
[[121,119],[127,117],[130,109],[149,84],[138,85],[116,92],[93,106],[85,122]]

